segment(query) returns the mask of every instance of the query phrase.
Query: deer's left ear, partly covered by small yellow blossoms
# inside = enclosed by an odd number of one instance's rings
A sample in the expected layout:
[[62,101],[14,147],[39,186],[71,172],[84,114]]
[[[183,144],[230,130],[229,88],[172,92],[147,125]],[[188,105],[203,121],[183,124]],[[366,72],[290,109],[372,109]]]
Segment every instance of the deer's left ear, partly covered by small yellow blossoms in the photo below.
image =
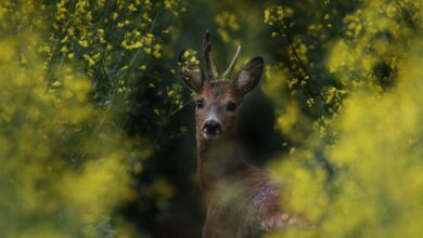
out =
[[200,62],[187,54],[187,50],[179,53],[179,64],[184,84],[194,92],[198,92],[203,85],[204,75]]

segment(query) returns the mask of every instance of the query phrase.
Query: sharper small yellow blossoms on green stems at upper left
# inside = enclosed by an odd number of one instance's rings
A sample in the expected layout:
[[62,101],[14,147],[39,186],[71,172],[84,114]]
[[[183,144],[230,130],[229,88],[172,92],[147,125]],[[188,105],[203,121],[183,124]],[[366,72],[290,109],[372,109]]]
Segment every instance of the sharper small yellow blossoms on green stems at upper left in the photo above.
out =
[[46,36],[38,52],[43,67],[78,62],[95,80],[94,98],[113,101],[119,93],[131,93],[132,87],[126,92],[118,88],[120,81],[134,83],[129,78],[146,75],[148,65],[164,56],[164,38],[171,26],[159,21],[165,14],[178,15],[180,8],[180,0],[5,0],[0,3],[0,16],[7,19],[0,31],[13,32],[20,24],[42,29]]

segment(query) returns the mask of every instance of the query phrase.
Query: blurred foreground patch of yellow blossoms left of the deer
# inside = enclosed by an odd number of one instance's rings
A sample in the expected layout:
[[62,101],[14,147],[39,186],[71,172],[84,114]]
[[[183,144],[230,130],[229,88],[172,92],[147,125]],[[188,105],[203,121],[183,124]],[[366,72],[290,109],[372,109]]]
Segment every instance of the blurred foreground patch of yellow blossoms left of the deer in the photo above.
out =
[[[113,232],[111,212],[133,197],[129,162],[150,148],[131,149],[110,128],[89,102],[87,78],[68,65],[43,68],[40,43],[28,31],[0,39],[0,235]],[[110,227],[95,228],[102,223]]]

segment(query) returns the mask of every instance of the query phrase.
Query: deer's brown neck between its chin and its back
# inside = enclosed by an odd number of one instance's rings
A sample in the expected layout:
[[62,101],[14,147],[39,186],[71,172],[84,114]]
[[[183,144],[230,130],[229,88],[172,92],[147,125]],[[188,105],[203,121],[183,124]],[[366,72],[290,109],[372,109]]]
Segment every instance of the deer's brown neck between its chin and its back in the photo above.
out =
[[236,176],[247,164],[233,134],[205,140],[200,133],[196,135],[197,170],[203,190],[209,193],[219,181]]

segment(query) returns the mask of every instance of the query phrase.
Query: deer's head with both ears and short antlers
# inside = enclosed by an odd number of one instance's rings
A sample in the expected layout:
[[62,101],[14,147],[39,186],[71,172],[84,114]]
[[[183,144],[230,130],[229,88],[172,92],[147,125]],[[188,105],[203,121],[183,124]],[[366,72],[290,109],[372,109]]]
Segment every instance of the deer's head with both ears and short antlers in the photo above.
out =
[[200,62],[190,57],[189,51],[185,50],[179,54],[179,63],[182,66],[183,82],[196,93],[197,136],[211,140],[233,129],[244,95],[251,92],[260,80],[264,61],[259,56],[252,58],[231,80],[241,47],[238,47],[228,69],[219,75],[210,55],[211,43],[208,31],[205,34],[203,44],[207,71],[204,71]]

